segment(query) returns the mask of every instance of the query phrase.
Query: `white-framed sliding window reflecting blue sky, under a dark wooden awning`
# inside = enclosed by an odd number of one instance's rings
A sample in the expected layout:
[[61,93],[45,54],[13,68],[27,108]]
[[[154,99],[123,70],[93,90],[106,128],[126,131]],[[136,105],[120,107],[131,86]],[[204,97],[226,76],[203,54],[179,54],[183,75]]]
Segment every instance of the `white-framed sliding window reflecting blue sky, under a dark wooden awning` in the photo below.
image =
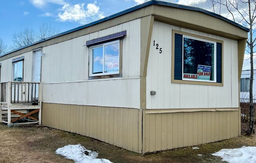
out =
[[90,76],[119,74],[119,40],[90,47]]

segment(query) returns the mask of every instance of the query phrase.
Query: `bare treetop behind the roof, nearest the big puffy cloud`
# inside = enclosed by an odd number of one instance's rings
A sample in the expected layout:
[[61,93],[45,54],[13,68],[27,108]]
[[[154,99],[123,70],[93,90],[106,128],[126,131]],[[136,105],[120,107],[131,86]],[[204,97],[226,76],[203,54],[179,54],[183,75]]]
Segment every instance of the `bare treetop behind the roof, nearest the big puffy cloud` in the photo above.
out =
[[38,40],[43,40],[45,38],[48,38],[58,33],[59,33],[59,28],[52,26],[51,24],[48,24],[48,23],[42,23],[39,26],[37,36],[38,36]]

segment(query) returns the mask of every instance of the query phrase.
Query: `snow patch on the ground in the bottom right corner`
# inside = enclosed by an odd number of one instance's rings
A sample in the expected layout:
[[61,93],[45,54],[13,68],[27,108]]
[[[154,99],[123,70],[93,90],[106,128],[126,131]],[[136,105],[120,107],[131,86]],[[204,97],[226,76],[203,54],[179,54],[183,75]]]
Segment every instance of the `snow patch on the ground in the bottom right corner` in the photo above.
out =
[[237,149],[221,149],[212,156],[221,157],[229,163],[256,163],[256,147],[241,147]]

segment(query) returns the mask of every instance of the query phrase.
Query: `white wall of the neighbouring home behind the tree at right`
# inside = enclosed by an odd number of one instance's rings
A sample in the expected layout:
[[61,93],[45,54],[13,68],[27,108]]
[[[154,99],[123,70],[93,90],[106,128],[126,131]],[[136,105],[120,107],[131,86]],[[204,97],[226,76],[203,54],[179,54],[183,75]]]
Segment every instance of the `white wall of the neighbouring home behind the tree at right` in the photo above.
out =
[[[251,70],[243,70],[242,71],[242,75],[241,75],[241,78],[250,78],[251,76]],[[256,98],[256,83],[255,83],[255,79],[256,79],[256,70],[254,70],[254,74],[253,74],[253,84],[252,84],[252,94],[253,94],[253,98],[255,99]],[[249,91],[248,92],[240,92],[240,98],[241,99],[249,99],[250,93]],[[245,101],[245,100],[241,100],[242,101]],[[246,100],[247,102],[247,100]]]

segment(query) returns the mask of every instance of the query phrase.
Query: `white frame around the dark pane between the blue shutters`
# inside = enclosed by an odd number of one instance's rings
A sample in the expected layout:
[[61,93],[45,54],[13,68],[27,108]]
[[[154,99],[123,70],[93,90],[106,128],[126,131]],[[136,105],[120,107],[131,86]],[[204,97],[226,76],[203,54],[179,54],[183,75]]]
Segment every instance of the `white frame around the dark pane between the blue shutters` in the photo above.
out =
[[[190,38],[193,40],[199,40],[199,41],[203,41],[203,42],[209,42],[209,43],[213,43],[214,44],[214,80],[197,80],[197,79],[187,79],[187,78],[183,78],[184,76],[184,72],[183,72],[183,65],[184,65],[184,38]],[[192,37],[192,36],[187,36],[187,35],[183,35],[182,37],[182,80],[188,80],[188,81],[197,81],[197,82],[211,82],[211,83],[216,83],[216,42],[213,41],[209,41],[209,40],[204,40],[201,38],[196,38],[196,37]]]

